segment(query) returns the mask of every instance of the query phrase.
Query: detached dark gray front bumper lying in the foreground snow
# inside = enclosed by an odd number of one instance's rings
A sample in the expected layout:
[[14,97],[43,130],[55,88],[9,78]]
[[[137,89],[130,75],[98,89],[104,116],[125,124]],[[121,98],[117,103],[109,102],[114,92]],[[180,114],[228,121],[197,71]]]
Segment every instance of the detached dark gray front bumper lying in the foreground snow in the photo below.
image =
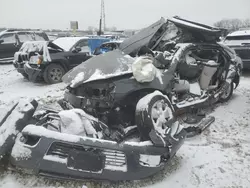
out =
[[161,171],[183,144],[185,133],[172,138],[170,146],[156,147],[151,141],[117,143],[28,125],[22,134],[39,140],[29,145],[19,135],[11,164],[51,178],[138,180]]

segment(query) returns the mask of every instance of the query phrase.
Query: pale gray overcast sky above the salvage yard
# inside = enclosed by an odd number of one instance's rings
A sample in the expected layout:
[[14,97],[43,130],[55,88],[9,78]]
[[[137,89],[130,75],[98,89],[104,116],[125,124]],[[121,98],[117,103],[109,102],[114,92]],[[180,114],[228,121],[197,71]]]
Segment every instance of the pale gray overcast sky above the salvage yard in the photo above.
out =
[[[80,29],[98,27],[101,0],[0,0],[0,27]],[[212,25],[223,18],[250,18],[250,0],[105,0],[106,26],[140,29],[178,15]]]

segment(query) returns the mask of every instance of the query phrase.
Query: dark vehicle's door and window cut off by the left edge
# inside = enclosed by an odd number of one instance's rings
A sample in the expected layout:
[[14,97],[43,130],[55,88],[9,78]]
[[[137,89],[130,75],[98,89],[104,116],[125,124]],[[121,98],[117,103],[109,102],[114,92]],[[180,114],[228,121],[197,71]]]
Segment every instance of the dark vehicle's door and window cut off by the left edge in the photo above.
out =
[[15,33],[3,34],[0,41],[0,59],[13,60],[15,52],[19,50]]

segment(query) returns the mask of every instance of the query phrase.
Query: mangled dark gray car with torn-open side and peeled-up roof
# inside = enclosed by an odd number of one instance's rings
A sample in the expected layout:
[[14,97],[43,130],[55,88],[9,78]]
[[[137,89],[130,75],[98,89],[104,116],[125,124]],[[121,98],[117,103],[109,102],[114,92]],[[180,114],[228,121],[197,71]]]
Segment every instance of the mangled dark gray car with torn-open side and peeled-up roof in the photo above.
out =
[[[220,32],[179,17],[161,19],[125,40],[119,50],[68,72],[60,104],[81,108],[109,126],[136,124],[142,139],[149,139],[151,130],[164,132],[171,126],[171,111],[178,114],[231,98],[242,62],[217,43]],[[148,100],[155,91],[164,97]],[[138,107],[144,99],[145,106]]]

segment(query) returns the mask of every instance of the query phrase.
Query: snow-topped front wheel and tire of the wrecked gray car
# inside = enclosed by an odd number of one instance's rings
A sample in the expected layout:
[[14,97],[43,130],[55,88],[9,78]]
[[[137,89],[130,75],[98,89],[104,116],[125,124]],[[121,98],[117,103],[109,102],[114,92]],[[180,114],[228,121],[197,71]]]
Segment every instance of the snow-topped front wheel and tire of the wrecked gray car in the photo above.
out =
[[149,94],[137,103],[135,120],[141,139],[150,140],[152,130],[166,134],[175,122],[174,109],[165,96]]

